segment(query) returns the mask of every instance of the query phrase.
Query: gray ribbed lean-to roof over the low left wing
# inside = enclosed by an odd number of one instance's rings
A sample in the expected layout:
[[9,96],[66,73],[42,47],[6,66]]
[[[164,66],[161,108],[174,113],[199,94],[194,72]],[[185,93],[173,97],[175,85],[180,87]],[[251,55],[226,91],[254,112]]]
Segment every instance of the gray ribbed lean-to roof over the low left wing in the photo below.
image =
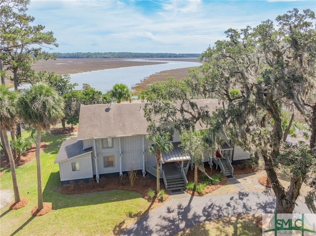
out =
[[88,152],[92,152],[92,147],[83,150],[83,141],[78,140],[78,137],[65,140],[60,146],[54,164],[78,157]]

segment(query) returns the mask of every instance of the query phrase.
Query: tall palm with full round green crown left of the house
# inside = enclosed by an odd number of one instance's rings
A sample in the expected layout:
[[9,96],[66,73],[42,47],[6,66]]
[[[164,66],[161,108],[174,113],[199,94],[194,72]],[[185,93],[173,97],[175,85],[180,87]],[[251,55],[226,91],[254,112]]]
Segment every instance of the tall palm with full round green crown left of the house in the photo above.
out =
[[41,130],[49,131],[50,125],[55,125],[63,118],[64,100],[52,87],[38,83],[22,91],[17,105],[24,122],[37,131],[35,156],[38,174],[38,210],[41,210],[43,208],[40,172]]

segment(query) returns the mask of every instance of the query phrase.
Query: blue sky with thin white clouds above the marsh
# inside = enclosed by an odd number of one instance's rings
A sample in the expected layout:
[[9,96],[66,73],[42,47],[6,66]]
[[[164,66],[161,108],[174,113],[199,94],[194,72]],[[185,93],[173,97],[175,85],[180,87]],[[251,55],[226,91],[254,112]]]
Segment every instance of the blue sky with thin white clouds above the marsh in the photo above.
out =
[[202,53],[229,28],[255,27],[315,0],[31,0],[51,52]]

